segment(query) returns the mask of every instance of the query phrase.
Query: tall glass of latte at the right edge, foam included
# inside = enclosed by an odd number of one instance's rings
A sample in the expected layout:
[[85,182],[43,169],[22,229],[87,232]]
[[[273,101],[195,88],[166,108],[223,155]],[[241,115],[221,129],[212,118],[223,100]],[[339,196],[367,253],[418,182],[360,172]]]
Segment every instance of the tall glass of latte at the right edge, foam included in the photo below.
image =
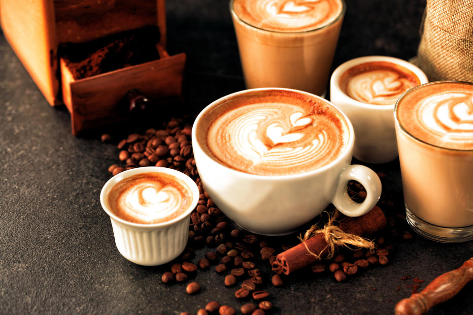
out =
[[394,116],[408,223],[439,242],[473,239],[473,84],[420,85]]

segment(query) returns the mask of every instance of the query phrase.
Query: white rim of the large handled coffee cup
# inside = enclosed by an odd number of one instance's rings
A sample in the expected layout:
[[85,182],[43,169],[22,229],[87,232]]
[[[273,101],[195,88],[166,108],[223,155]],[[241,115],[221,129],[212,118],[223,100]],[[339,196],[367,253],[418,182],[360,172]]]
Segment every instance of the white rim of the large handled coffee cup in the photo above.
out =
[[[256,92],[256,91],[271,91],[271,90],[289,91],[289,92],[304,94],[304,95],[307,95],[307,96],[310,96],[310,97],[318,98],[318,99],[328,103],[330,106],[334,107],[338,111],[338,113],[341,114],[341,116],[343,117],[343,119],[346,122],[346,125],[348,126],[348,131],[349,131],[348,132],[349,133],[348,134],[348,141],[347,141],[347,144],[346,144],[345,149],[343,150],[343,152],[336,159],[334,159],[333,161],[331,161],[327,165],[324,165],[322,167],[319,167],[317,169],[314,169],[314,170],[311,170],[311,171],[308,171],[308,172],[297,173],[297,174],[288,174],[288,175],[258,175],[258,174],[245,173],[243,171],[239,171],[239,170],[230,168],[228,166],[225,166],[222,163],[220,163],[220,162],[216,161],[215,159],[211,158],[210,156],[208,156],[205,153],[205,151],[202,149],[202,146],[199,143],[199,141],[197,140],[197,125],[200,122],[203,115],[205,115],[205,113],[207,111],[209,111],[211,108],[213,108],[214,106],[217,106],[219,103],[222,103],[222,102],[224,102],[225,100],[227,100],[229,98],[232,98],[232,97],[235,97],[235,96],[238,96],[238,95],[242,95],[242,94]],[[346,114],[342,110],[340,110],[335,104],[333,104],[332,102],[330,102],[329,100],[327,100],[327,99],[325,99],[321,96],[314,95],[314,94],[311,94],[311,93],[308,93],[308,92],[305,92],[305,91],[300,91],[300,90],[295,90],[295,89],[288,89],[288,88],[255,88],[255,89],[242,90],[242,91],[231,93],[229,95],[222,96],[222,97],[214,100],[213,102],[211,102],[210,104],[208,104],[207,106],[205,106],[203,108],[203,110],[199,113],[199,115],[195,119],[194,126],[192,128],[192,146],[193,146],[194,150],[195,150],[195,148],[197,148],[198,150],[202,151],[203,155],[206,158],[210,159],[213,163],[225,168],[230,173],[235,173],[237,175],[245,176],[245,177],[256,179],[256,180],[270,180],[270,181],[284,181],[284,180],[288,180],[288,179],[304,178],[304,177],[307,177],[307,176],[312,176],[314,174],[322,173],[322,172],[334,167],[335,165],[340,163],[340,161],[345,159],[347,157],[347,155],[353,154],[354,138],[355,138],[355,132],[354,132],[354,129],[353,129],[353,125],[351,124],[351,121],[348,119]]]

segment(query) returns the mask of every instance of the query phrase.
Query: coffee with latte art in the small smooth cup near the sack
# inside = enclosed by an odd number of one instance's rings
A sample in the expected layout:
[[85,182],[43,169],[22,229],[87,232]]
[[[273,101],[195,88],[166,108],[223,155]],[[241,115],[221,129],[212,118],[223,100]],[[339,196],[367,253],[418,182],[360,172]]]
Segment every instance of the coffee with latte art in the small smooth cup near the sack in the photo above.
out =
[[358,64],[340,77],[343,93],[373,105],[394,105],[399,96],[419,84],[419,78],[412,71],[390,62]]

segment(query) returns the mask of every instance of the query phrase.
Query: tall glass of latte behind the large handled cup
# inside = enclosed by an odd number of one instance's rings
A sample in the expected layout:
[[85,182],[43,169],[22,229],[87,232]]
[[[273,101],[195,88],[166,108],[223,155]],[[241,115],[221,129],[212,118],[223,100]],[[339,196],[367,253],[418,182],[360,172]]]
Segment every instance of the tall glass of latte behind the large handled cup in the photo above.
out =
[[230,11],[248,89],[325,94],[343,0],[230,0]]

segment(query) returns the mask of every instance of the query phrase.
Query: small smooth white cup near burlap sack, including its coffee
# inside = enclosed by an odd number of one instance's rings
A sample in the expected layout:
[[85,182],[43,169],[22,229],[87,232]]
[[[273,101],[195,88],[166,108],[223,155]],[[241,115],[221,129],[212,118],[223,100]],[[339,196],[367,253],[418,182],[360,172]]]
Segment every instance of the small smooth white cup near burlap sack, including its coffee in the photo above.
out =
[[340,64],[330,79],[330,101],[355,129],[353,156],[368,163],[398,157],[394,105],[407,90],[429,82],[412,63],[385,56],[366,56]]

